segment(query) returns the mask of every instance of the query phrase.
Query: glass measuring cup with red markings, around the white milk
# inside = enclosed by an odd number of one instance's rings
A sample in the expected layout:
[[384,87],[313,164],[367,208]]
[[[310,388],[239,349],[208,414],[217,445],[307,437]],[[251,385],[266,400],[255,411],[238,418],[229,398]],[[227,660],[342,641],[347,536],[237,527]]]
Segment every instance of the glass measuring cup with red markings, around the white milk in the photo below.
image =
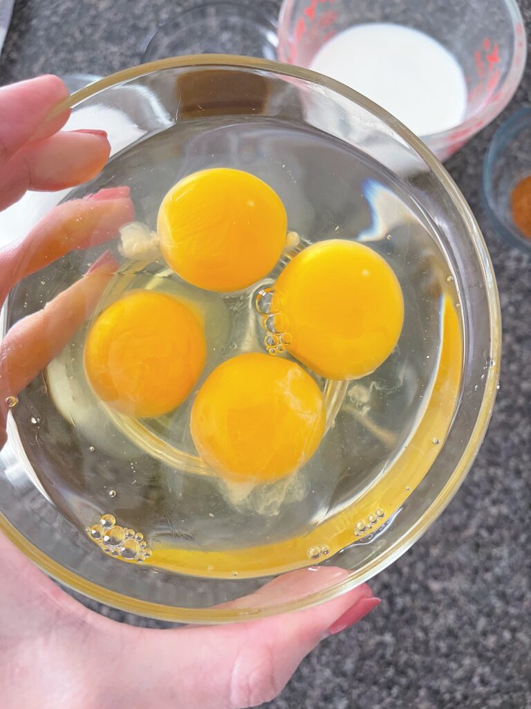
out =
[[515,0],[433,0],[430,4],[421,0],[284,0],[278,23],[278,57],[282,62],[310,67],[316,53],[333,36],[372,22],[420,30],[449,50],[462,67],[468,92],[463,120],[440,133],[421,135],[440,160],[447,160],[493,121],[522,78],[527,50]]

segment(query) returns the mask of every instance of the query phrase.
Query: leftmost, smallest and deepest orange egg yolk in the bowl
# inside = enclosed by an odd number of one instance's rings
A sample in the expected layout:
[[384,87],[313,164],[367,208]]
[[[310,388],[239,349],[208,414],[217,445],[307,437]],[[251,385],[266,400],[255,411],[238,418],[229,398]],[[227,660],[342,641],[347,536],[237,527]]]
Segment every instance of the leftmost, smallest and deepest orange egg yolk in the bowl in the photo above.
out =
[[132,291],[101,313],[84,362],[96,394],[120,413],[160,416],[190,393],[205,366],[200,316],[173,296]]

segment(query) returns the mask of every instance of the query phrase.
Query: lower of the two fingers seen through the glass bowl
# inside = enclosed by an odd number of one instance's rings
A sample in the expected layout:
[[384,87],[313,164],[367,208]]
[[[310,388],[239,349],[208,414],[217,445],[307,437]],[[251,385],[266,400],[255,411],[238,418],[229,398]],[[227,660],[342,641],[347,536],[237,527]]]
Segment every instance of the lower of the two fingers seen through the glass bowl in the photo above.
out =
[[83,278],[8,331],[0,345],[0,409],[4,411],[4,423],[6,399],[18,396],[57,357],[91,315],[117,268],[118,262],[106,252]]

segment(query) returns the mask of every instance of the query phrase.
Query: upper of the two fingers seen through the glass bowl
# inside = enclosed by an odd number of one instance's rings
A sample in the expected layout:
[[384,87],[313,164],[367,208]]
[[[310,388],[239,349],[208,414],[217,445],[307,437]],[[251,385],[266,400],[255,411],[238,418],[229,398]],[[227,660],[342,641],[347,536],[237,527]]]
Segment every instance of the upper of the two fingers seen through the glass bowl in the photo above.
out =
[[59,204],[16,245],[0,250],[0,306],[21,279],[75,249],[103,244],[135,218],[129,187],[102,189]]

